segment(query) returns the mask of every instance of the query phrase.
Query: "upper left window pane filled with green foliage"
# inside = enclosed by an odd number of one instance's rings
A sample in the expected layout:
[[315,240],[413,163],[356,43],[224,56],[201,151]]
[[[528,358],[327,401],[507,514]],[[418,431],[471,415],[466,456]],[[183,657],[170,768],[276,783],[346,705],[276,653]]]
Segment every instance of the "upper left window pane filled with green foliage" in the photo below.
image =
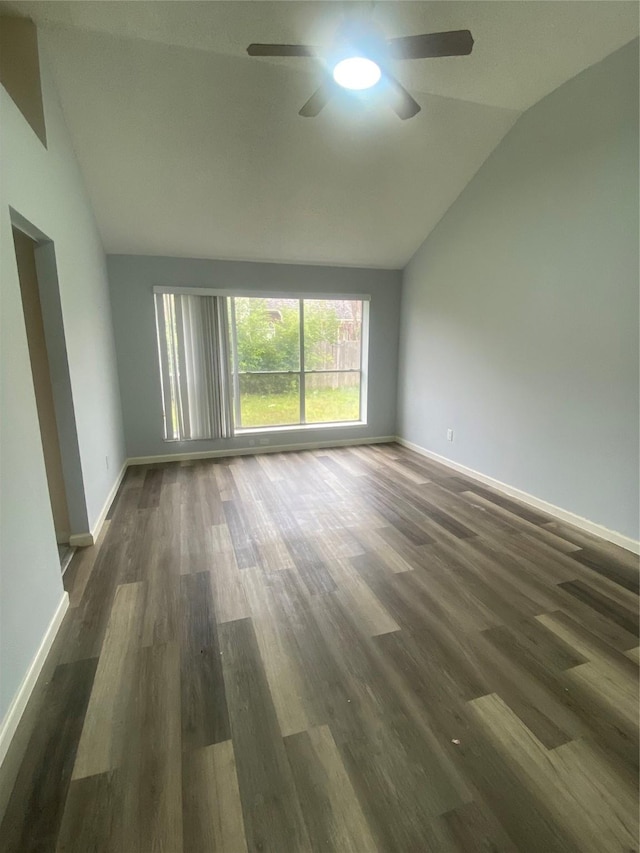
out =
[[298,299],[236,297],[235,313],[240,373],[300,369]]

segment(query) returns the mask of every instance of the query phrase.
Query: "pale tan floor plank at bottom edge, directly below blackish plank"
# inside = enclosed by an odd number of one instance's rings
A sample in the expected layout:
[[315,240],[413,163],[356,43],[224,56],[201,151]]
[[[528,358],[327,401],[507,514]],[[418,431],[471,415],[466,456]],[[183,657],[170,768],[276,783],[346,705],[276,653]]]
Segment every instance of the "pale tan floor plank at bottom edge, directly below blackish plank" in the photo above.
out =
[[184,853],[247,853],[230,740],[183,756],[182,801]]

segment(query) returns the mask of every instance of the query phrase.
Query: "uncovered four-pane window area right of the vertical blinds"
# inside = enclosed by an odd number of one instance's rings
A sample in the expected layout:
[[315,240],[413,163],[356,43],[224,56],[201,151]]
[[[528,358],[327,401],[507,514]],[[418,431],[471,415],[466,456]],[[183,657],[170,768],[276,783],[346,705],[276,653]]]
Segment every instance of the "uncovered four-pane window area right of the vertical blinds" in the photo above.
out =
[[368,303],[244,296],[230,303],[236,430],[366,419]]

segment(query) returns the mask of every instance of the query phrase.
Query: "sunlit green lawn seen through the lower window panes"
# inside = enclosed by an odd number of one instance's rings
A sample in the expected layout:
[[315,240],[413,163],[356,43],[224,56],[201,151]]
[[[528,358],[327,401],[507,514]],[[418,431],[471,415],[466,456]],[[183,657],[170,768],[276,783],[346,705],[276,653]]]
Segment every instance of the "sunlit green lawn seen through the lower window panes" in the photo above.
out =
[[[284,426],[300,422],[300,398],[289,394],[243,394],[240,398],[242,427]],[[360,417],[360,389],[322,388],[307,391],[306,422],[357,421]]]

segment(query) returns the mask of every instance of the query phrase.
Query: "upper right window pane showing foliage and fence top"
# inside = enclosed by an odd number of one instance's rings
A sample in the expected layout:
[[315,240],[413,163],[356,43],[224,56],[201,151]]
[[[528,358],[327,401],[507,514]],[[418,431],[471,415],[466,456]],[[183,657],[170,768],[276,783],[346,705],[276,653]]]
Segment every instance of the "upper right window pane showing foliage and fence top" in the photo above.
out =
[[304,300],[305,370],[360,370],[362,302]]

